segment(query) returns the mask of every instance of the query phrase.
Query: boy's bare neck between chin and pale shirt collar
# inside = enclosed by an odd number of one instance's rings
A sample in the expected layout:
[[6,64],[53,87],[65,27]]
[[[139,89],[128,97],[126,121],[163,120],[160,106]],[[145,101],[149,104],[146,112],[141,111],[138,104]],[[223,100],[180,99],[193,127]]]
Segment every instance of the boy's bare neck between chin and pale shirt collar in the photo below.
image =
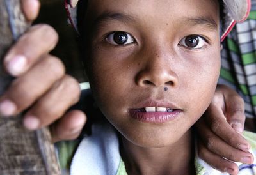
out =
[[195,174],[191,131],[162,148],[142,148],[122,138],[121,155],[128,174]]

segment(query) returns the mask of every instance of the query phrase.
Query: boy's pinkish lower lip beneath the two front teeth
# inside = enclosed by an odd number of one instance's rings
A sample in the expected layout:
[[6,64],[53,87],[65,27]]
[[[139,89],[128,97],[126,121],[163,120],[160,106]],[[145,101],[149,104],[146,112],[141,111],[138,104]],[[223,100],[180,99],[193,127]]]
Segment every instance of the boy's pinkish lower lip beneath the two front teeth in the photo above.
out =
[[173,112],[141,112],[136,109],[130,110],[131,117],[145,123],[166,123],[180,116],[182,110]]

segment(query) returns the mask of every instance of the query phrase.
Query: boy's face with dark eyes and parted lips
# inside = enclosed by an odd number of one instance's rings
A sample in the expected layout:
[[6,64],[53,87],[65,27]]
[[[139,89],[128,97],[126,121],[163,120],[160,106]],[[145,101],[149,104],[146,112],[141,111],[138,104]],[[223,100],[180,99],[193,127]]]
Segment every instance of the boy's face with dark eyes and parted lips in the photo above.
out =
[[214,95],[218,1],[93,0],[86,19],[87,72],[103,114],[136,145],[177,142]]

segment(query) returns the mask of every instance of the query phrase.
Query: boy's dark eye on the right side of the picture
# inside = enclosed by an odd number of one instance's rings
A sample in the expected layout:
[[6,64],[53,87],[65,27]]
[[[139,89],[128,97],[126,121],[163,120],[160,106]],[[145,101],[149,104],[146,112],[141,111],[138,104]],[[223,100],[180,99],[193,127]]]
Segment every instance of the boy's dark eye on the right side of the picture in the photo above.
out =
[[205,45],[205,39],[198,35],[189,35],[180,40],[180,45],[191,49],[200,49]]

